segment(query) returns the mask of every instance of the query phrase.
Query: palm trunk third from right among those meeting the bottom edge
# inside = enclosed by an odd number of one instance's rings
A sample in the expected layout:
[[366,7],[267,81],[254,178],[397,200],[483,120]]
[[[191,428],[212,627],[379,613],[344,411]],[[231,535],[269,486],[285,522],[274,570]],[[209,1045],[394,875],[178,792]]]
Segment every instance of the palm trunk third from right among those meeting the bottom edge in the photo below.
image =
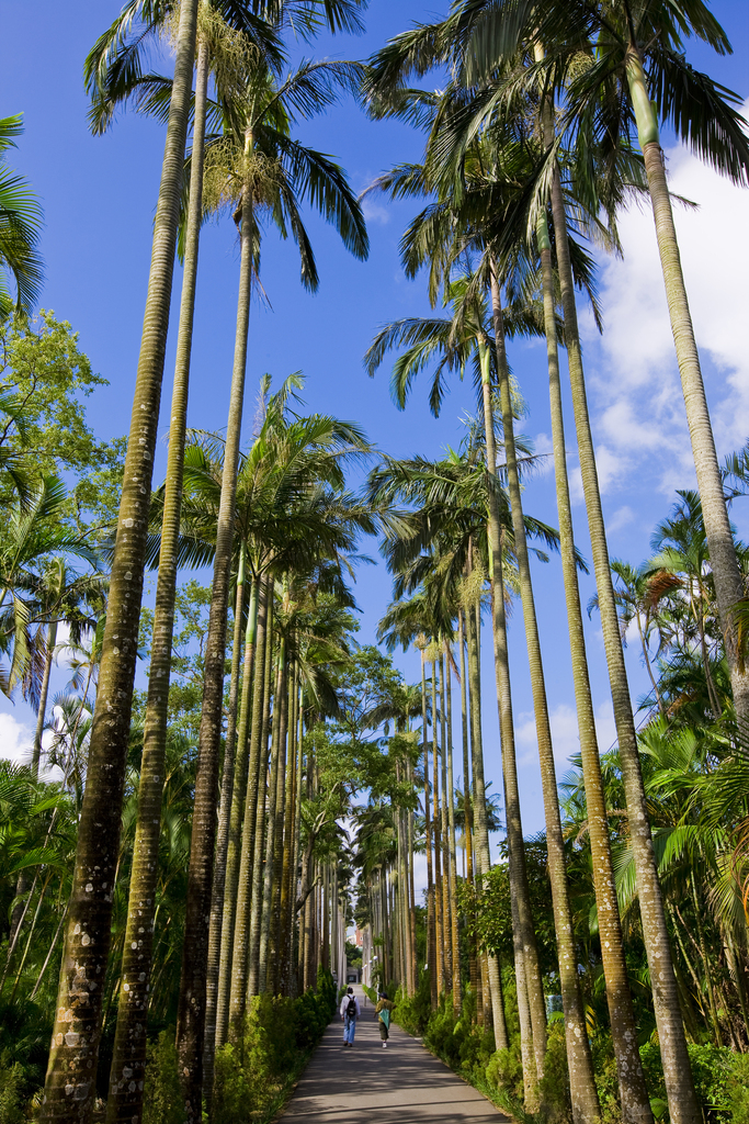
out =
[[559,797],[557,792],[557,773],[554,764],[554,746],[551,744],[551,727],[549,725],[541,644],[536,617],[536,602],[533,599],[528,543],[526,540],[526,524],[523,522],[520,473],[518,471],[518,454],[514,438],[514,418],[510,395],[510,369],[508,366],[504,343],[502,294],[495,266],[492,268],[491,289],[508,490],[510,493],[514,550],[520,578],[520,599],[526,626],[526,647],[528,651],[531,691],[533,696],[536,737],[541,770],[541,790],[544,792],[549,881],[551,883],[554,927],[557,937],[557,957],[559,962],[559,984],[565,1015],[569,1095],[573,1120],[577,1124],[593,1124],[593,1121],[597,1120],[601,1115],[601,1108],[593,1075],[593,1058],[585,1026],[583,999],[579,991],[577,950],[575,949],[572,910],[569,908],[565,846],[561,835],[561,817],[559,815]]

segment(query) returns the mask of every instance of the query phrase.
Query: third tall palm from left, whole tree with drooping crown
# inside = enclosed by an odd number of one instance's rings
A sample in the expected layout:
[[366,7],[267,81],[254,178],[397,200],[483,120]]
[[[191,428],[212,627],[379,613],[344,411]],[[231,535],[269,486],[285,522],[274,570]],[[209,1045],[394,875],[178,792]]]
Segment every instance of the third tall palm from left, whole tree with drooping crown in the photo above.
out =
[[[234,508],[239,437],[247,361],[247,333],[253,278],[259,265],[259,215],[270,212],[282,232],[289,220],[300,247],[302,279],[317,288],[318,278],[299,205],[305,197],[336,225],[344,243],[357,256],[367,253],[360,209],[345,176],[332,162],[304,148],[290,136],[294,115],[311,116],[335,100],[342,83],[351,81],[347,64],[303,63],[295,74],[276,87],[266,67],[248,75],[246,101],[237,129],[228,128],[219,163],[217,203],[228,200],[237,207],[240,230],[239,299],[235,362],[231,380],[229,422],[219,506],[213,568],[209,637],[205,651],[203,709],[201,718],[199,772],[193,817],[191,876],[188,900],[188,932],[183,959],[183,986],[177,1019],[180,1066],[189,1073],[188,1118],[198,1118],[202,1088],[202,1037],[204,1023],[205,971],[208,963],[211,878],[213,862],[214,792],[218,777],[226,604],[229,564],[234,542]],[[221,166],[222,165],[222,166]],[[220,169],[220,171],[219,171]]]

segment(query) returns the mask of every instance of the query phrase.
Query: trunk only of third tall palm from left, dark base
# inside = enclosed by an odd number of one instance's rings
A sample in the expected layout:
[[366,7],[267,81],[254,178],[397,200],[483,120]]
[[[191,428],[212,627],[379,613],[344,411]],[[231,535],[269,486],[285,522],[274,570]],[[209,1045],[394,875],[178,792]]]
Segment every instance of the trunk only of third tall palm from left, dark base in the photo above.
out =
[[234,545],[237,495],[237,464],[247,371],[247,334],[252,296],[253,238],[252,189],[245,187],[241,201],[239,296],[234,370],[223,453],[221,498],[216,534],[213,584],[205,644],[203,701],[198,740],[198,772],[192,815],[185,941],[177,1007],[176,1045],[185,1096],[188,1124],[202,1120],[203,1033],[205,982],[210,936],[213,847],[216,843],[216,797],[221,750],[223,711],[223,664],[226,658],[227,601]]

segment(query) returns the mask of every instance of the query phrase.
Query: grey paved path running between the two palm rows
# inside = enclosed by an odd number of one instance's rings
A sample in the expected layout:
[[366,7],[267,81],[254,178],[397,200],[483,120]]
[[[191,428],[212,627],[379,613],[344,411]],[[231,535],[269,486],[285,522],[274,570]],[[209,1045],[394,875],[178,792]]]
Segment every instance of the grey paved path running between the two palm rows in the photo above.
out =
[[374,1008],[360,987],[354,1048],[340,1017],[327,1028],[282,1116],[282,1124],[499,1124],[506,1116],[420,1042],[391,1024],[383,1050]]

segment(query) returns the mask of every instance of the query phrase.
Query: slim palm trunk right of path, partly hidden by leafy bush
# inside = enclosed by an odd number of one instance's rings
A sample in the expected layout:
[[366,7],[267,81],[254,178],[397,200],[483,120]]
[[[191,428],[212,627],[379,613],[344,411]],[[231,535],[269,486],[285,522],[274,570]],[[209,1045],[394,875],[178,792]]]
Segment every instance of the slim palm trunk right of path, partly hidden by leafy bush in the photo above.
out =
[[[486,785],[484,781],[484,742],[482,735],[481,719],[481,668],[479,668],[479,642],[478,642],[478,618],[479,606],[468,610],[468,677],[471,696],[471,753],[473,773],[473,815],[476,842],[476,874],[478,892],[484,892],[483,876],[491,869],[488,852],[488,830],[486,826]],[[481,959],[479,959],[481,968]],[[490,957],[486,961],[485,971],[488,976],[488,991],[492,1007],[492,1022],[488,1018],[486,1004],[483,1004],[484,1026],[494,1026],[494,1044],[497,1050],[506,1050],[510,1045],[508,1027],[504,1017],[504,1003],[502,998],[502,980],[500,978],[499,962],[496,957]],[[482,976],[484,972],[482,971]]]

